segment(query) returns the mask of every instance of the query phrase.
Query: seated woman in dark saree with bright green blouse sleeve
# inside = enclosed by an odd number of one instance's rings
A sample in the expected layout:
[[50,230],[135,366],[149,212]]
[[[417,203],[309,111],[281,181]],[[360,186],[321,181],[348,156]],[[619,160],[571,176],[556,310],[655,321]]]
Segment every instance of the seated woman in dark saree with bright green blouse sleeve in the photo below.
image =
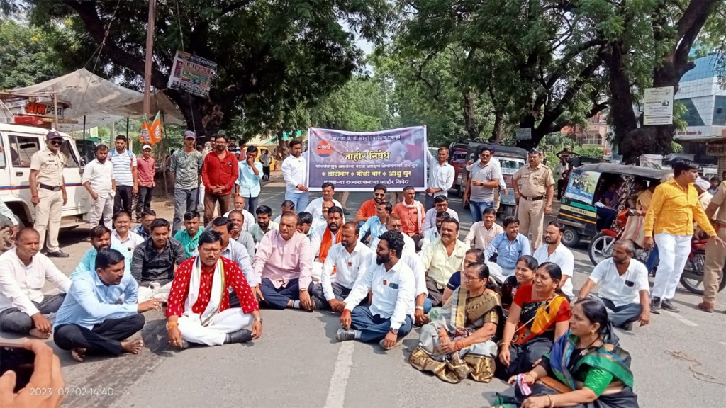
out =
[[[550,388],[538,380],[547,376]],[[570,330],[542,357],[537,367],[521,376],[529,385],[525,396],[515,386],[510,396],[497,396],[498,407],[637,408],[630,355],[618,345],[608,311],[595,298],[575,303]],[[554,382],[556,380],[557,382]],[[510,378],[514,384],[517,378]]]

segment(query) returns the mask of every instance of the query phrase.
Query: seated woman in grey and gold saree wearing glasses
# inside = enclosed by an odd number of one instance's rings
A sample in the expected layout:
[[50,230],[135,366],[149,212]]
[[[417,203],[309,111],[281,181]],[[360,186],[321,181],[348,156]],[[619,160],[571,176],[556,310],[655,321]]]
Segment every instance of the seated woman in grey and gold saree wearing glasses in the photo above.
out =
[[492,290],[485,264],[470,264],[461,278],[462,285],[454,290],[439,317],[421,328],[409,363],[448,383],[467,377],[489,383],[497,357],[492,337],[502,318],[499,294]]

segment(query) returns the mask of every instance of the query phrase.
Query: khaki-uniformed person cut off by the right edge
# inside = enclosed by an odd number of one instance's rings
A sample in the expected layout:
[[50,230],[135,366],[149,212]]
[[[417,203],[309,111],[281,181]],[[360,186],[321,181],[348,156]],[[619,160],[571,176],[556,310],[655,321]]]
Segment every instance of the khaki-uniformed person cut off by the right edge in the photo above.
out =
[[[726,240],[726,181],[721,181],[711,203],[706,207],[706,216],[716,229],[716,236]],[[726,248],[718,245],[714,237],[706,244],[706,261],[703,264],[703,301],[698,309],[709,313],[716,306],[716,293],[719,291],[719,277],[726,262]],[[726,278],[725,278],[726,279]]]

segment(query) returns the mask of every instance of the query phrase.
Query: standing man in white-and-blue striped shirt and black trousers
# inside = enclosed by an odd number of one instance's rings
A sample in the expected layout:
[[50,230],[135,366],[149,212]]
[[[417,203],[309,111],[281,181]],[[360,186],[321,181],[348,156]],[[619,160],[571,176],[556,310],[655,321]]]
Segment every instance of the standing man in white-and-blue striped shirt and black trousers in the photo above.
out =
[[113,176],[116,178],[113,213],[121,210],[131,213],[131,198],[139,192],[138,163],[134,152],[126,149],[126,136],[116,136],[115,145],[116,148],[108,155],[108,160],[113,164]]

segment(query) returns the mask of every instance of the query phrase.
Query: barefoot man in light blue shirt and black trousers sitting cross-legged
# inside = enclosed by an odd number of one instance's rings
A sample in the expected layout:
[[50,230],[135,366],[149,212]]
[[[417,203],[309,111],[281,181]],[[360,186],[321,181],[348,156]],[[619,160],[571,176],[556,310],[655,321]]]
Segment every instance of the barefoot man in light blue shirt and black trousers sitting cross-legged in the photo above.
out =
[[139,284],[124,264],[118,250],[101,248],[94,272],[74,277],[58,310],[53,340],[79,362],[86,354],[138,354],[143,341],[126,339],[144,327],[143,311],[161,309],[159,299],[138,303]]

